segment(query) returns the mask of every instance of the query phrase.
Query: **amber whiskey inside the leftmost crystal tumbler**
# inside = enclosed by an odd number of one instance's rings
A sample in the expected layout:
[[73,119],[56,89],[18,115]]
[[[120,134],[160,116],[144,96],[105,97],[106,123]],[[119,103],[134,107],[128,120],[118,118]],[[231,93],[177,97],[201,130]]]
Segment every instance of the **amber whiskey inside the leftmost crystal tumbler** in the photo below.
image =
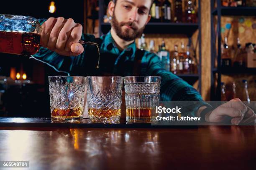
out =
[[83,115],[82,108],[73,108],[73,109],[54,109],[51,112],[51,117],[54,118],[76,118]]

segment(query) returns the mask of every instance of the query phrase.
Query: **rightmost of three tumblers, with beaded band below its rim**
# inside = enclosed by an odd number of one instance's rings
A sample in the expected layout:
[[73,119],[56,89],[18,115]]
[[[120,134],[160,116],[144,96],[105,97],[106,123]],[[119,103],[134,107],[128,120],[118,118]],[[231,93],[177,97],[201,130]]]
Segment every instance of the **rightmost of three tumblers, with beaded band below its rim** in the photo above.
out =
[[156,121],[160,83],[161,77],[124,77],[126,121],[128,123],[151,123]]

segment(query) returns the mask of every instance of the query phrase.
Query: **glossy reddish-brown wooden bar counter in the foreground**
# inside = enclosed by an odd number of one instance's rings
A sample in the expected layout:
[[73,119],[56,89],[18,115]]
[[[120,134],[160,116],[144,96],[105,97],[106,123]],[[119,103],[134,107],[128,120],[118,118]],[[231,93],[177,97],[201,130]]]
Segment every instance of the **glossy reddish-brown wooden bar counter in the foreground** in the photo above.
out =
[[[33,121],[42,124],[28,124]],[[0,161],[29,161],[24,169],[32,170],[256,169],[256,126],[74,128],[44,122],[49,120],[0,117]]]

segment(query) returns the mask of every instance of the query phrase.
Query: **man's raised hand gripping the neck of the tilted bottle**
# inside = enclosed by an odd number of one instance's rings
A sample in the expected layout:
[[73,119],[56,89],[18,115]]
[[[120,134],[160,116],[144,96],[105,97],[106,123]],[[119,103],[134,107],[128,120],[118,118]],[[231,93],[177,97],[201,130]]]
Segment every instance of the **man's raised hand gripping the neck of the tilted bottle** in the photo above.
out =
[[84,51],[84,47],[78,43],[82,36],[82,25],[74,23],[73,19],[49,18],[42,28],[43,47],[65,56],[77,56]]

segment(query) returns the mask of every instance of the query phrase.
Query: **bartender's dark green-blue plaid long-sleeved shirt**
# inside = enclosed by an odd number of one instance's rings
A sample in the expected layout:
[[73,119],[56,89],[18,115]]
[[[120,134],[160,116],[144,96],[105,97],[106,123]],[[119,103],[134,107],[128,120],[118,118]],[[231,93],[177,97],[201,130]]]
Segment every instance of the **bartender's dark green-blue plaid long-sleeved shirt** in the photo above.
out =
[[[110,32],[100,38],[83,34],[81,40],[100,44],[99,69],[96,69],[98,54],[95,45],[84,45],[84,52],[72,57],[61,56],[41,47],[34,57],[57,70],[69,72],[70,75],[161,76],[161,101],[202,101],[200,93],[194,87],[172,72],[164,70],[156,54],[137,49],[135,42],[120,51]],[[202,102],[202,105],[205,103]]]

